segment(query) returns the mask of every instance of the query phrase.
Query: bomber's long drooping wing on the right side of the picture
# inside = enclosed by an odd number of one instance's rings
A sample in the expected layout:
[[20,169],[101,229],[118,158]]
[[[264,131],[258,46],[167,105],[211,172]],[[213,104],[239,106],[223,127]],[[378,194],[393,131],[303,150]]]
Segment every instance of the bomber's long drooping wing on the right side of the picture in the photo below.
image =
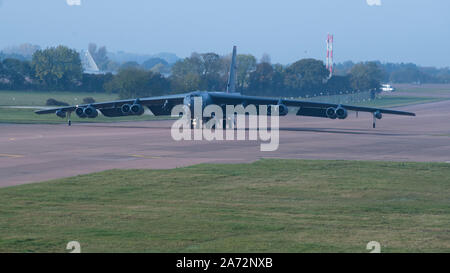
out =
[[[254,104],[258,105],[277,105],[284,104],[286,106],[294,106],[305,109],[316,109],[316,110],[326,110],[327,108],[333,107],[338,108],[342,107],[346,110],[357,111],[357,112],[369,112],[369,113],[382,113],[382,114],[391,114],[391,115],[403,115],[403,116],[415,116],[416,114],[405,111],[397,111],[391,109],[383,109],[376,107],[364,107],[364,106],[353,106],[346,104],[333,104],[333,103],[322,103],[322,102],[310,102],[303,100],[293,100],[293,99],[278,99],[278,98],[266,98],[266,97],[255,97],[255,96],[243,96],[239,94],[227,94],[227,93],[210,93],[210,96],[213,98],[213,101],[220,104],[227,105],[238,105],[238,104]],[[299,112],[297,113],[298,115]]]

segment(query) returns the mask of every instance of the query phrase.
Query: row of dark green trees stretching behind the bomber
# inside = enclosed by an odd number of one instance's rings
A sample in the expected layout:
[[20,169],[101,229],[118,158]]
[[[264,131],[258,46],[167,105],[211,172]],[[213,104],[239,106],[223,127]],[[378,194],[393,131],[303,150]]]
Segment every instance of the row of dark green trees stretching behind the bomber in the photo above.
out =
[[[106,50],[90,48],[99,66],[106,66]],[[103,62],[102,62],[103,60]],[[39,49],[31,60],[6,58],[0,62],[0,89],[113,92],[121,98],[155,96],[195,90],[225,91],[230,56],[192,53],[161,74],[143,65],[129,65],[117,73],[83,73],[80,55],[65,46]],[[148,67],[154,63],[147,64]],[[376,90],[384,74],[376,62],[354,64],[346,73],[329,77],[320,60],[302,59],[290,65],[271,64],[250,54],[237,56],[237,91],[247,95],[312,97]]]

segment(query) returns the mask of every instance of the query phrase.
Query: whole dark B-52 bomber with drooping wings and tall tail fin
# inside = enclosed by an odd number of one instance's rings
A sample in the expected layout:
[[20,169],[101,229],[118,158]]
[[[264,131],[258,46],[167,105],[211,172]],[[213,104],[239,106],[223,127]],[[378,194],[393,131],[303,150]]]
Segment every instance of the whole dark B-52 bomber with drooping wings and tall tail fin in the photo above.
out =
[[[257,96],[245,96],[236,93],[236,46],[233,47],[233,55],[231,60],[227,91],[226,92],[209,92],[194,91],[184,94],[167,95],[149,98],[134,98],[126,100],[116,100],[110,102],[99,102],[91,104],[82,104],[75,106],[59,107],[53,109],[39,110],[36,114],[56,114],[58,117],[67,118],[68,125],[71,125],[70,114],[75,114],[80,118],[96,118],[98,111],[106,117],[121,117],[129,115],[144,114],[144,107],[148,107],[156,116],[171,115],[172,108],[176,105],[185,105],[194,113],[194,100],[202,99],[203,109],[211,104],[219,105],[225,109],[226,105],[260,105],[278,107],[278,115],[285,116],[288,114],[288,107],[299,107],[298,116],[321,117],[330,119],[346,119],[348,111],[369,112],[373,115],[373,128],[375,128],[376,120],[381,119],[383,114],[415,116],[414,113],[396,111],[390,109],[361,107],[344,104],[310,102],[295,99],[268,98]],[[191,126],[195,123],[195,117],[191,117]],[[225,124],[225,123],[224,123]]]

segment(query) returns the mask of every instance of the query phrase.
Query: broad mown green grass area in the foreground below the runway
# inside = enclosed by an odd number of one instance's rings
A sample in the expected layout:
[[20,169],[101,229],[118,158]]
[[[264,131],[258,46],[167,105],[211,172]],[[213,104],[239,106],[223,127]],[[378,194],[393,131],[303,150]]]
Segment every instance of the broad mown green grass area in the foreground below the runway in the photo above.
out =
[[450,251],[450,164],[261,160],[0,189],[0,252]]

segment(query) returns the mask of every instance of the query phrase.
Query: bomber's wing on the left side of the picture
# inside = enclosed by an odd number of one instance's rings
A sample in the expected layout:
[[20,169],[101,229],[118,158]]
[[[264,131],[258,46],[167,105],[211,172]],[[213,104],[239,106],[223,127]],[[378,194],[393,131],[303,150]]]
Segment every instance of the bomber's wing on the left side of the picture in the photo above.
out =
[[[115,100],[115,101],[109,101],[109,102],[98,102],[98,103],[91,103],[91,104],[80,104],[80,105],[73,105],[73,106],[64,106],[64,107],[57,107],[57,108],[51,108],[51,109],[44,109],[44,110],[38,110],[35,113],[36,114],[54,114],[57,111],[63,111],[63,112],[73,112],[78,107],[87,107],[92,106],[95,109],[100,110],[103,114],[108,112],[108,110],[111,109],[119,109],[124,104],[133,104],[136,102],[136,100],[139,101],[139,103],[143,106],[147,106],[152,110],[152,112],[155,115],[155,112],[159,112],[158,110],[162,110],[162,106],[165,104],[170,104],[170,106],[175,106],[178,104],[183,103],[183,99],[186,96],[186,94],[176,94],[176,95],[168,95],[168,96],[160,96],[160,97],[151,97],[151,98],[142,98],[142,99],[127,99],[127,100]],[[161,109],[158,109],[161,108]],[[164,114],[167,111],[164,111]],[[170,115],[170,111],[168,113]]]

